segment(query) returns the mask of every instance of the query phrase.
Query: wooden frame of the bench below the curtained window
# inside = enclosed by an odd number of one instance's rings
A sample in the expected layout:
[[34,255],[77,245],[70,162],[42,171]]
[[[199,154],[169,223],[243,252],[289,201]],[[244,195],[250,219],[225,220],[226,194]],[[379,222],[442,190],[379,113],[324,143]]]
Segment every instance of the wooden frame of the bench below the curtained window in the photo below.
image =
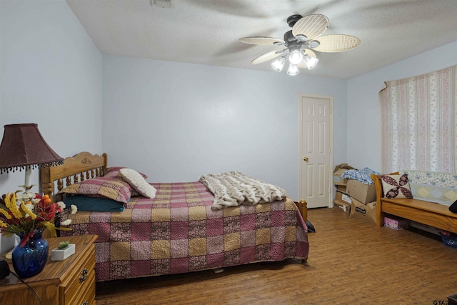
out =
[[[398,174],[398,173],[393,173]],[[376,187],[376,225],[383,226],[384,214],[400,216],[438,229],[457,233],[457,214],[449,207],[420,199],[388,199],[383,197],[381,175],[371,174]]]

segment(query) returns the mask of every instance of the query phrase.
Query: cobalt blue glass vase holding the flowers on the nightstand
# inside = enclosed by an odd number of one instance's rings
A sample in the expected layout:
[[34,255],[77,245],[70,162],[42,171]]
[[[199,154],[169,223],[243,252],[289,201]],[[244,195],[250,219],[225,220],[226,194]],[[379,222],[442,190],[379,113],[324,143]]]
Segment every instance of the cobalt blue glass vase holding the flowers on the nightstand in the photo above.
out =
[[[22,239],[24,236],[19,235]],[[49,244],[41,237],[41,231],[35,230],[34,236],[21,248],[21,244],[14,248],[11,261],[14,271],[21,277],[30,277],[39,274],[48,260]]]

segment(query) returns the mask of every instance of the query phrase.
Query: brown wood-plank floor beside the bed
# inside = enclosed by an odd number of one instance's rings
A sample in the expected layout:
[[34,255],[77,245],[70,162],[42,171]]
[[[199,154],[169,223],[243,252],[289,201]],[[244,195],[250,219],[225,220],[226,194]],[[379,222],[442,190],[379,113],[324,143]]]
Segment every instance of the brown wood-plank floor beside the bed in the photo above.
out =
[[96,285],[104,304],[447,304],[457,293],[457,250],[439,236],[310,209],[308,261],[224,272],[153,276]]

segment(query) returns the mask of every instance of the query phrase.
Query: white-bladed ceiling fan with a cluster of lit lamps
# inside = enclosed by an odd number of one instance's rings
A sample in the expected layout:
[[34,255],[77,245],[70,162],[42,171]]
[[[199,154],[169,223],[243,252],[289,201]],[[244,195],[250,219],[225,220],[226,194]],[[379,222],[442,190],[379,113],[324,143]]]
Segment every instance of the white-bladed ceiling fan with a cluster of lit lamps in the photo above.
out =
[[251,64],[261,64],[281,56],[271,64],[273,69],[281,71],[288,57],[287,74],[296,75],[298,74],[298,68],[312,69],[316,66],[318,59],[314,51],[342,52],[353,49],[360,44],[360,39],[351,35],[332,34],[321,36],[328,27],[328,18],[322,14],[292,15],[288,17],[287,24],[292,29],[286,31],[284,39],[263,36],[240,39],[245,44],[286,47],[258,56],[251,61]]

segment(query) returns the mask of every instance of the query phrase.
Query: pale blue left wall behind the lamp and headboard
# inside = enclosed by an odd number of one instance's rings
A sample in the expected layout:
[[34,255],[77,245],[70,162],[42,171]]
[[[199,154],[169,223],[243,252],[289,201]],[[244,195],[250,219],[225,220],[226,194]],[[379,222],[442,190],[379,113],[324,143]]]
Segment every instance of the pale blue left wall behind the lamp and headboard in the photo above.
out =
[[[101,152],[101,54],[66,2],[1,0],[0,31],[0,135],[36,123],[62,157]],[[0,194],[21,184],[24,171],[1,174]]]

